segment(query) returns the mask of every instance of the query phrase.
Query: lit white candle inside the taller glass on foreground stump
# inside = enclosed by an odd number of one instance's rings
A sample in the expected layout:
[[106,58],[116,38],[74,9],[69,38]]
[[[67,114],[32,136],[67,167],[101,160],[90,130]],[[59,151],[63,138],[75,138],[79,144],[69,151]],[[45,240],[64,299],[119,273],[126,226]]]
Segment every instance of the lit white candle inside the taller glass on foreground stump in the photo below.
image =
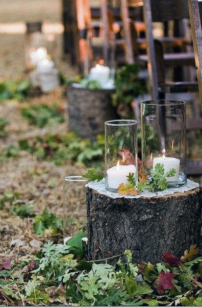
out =
[[165,149],[162,151],[162,157],[154,158],[153,160],[153,170],[157,163],[161,163],[164,166],[165,173],[170,169],[175,169],[176,173],[173,177],[166,177],[167,182],[175,182],[179,180],[180,176],[180,159],[165,156]]

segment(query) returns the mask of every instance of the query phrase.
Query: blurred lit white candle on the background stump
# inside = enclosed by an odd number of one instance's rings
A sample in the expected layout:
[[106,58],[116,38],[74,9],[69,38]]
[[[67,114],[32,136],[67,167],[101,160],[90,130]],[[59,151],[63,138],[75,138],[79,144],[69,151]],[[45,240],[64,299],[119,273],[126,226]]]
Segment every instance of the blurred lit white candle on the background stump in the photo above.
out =
[[108,66],[96,64],[90,69],[89,80],[95,80],[101,85],[105,85],[110,79],[110,68]]

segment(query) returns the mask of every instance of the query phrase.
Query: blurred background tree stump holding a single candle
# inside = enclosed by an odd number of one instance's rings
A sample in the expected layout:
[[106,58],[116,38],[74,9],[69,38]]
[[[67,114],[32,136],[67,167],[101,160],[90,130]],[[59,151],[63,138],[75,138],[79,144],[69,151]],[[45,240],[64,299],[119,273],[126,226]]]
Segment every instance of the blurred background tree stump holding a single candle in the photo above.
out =
[[90,90],[68,86],[69,130],[90,139],[104,132],[105,121],[117,118],[116,109],[111,103],[112,93],[112,89]]

